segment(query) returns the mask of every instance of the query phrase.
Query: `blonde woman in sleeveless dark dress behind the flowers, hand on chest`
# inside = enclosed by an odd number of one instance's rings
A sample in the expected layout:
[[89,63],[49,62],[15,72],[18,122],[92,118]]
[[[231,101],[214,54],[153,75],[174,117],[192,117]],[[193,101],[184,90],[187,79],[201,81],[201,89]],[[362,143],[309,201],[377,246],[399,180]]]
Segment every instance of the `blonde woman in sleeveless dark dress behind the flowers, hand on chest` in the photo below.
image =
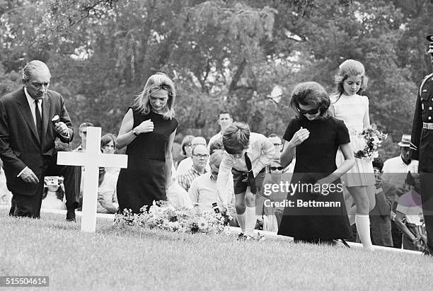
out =
[[127,147],[127,169],[117,180],[119,210],[138,213],[154,200],[166,200],[171,182],[171,148],[178,127],[174,118],[175,88],[166,74],[149,77],[142,93],[123,118],[117,149]]

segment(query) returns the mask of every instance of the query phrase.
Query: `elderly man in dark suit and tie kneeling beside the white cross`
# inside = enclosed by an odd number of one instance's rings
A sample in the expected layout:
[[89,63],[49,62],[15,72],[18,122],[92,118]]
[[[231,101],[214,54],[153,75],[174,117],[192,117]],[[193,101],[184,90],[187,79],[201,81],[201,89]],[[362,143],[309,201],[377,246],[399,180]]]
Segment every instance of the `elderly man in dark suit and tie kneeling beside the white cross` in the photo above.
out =
[[81,171],[58,166],[54,140],[71,142],[74,130],[62,96],[48,90],[50,70],[33,60],[23,69],[23,88],[0,99],[0,158],[11,190],[9,215],[40,217],[45,176],[64,176],[67,220],[75,221]]

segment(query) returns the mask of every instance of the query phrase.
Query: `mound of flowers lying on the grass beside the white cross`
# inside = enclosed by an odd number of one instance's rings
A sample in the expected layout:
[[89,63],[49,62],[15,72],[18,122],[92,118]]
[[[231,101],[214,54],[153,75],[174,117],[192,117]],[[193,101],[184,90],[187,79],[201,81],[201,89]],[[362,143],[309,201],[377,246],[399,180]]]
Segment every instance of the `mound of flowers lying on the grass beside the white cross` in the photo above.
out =
[[146,209],[147,205],[144,205],[139,214],[124,210],[122,214],[115,215],[115,224],[165,229],[170,232],[210,234],[227,231],[229,221],[233,218],[226,212],[205,212],[198,207],[179,207],[168,201],[154,201],[149,212]]

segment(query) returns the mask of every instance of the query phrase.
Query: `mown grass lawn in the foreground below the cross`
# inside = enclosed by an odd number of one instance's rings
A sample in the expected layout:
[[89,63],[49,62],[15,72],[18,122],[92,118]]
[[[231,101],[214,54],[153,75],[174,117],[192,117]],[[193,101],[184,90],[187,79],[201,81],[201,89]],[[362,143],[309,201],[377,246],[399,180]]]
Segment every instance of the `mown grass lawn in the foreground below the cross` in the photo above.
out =
[[0,275],[48,275],[54,290],[429,290],[433,283],[433,259],[408,253],[120,229],[107,219],[88,234],[64,215],[20,219],[6,209],[0,229]]

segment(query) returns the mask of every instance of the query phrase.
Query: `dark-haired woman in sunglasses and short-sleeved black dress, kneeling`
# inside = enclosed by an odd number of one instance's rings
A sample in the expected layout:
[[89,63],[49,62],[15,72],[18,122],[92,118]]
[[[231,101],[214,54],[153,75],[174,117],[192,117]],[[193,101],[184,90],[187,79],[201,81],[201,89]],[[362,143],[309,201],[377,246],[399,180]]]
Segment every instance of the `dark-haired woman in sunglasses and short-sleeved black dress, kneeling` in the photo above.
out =
[[[289,165],[294,156],[296,164],[278,234],[315,244],[350,238],[340,182],[354,164],[347,127],[330,116],[328,93],[316,82],[298,84],[290,103],[297,117],[284,134],[281,164]],[[337,167],[339,148],[345,161]]]

